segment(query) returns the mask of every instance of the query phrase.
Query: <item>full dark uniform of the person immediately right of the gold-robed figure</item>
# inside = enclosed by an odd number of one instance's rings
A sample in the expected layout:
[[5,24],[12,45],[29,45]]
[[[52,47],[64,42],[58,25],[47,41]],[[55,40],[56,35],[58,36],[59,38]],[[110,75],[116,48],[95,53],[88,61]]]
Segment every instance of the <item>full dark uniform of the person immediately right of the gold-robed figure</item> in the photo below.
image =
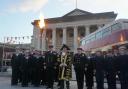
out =
[[84,53],[76,53],[73,60],[78,89],[83,89],[84,73],[87,65],[87,58]]

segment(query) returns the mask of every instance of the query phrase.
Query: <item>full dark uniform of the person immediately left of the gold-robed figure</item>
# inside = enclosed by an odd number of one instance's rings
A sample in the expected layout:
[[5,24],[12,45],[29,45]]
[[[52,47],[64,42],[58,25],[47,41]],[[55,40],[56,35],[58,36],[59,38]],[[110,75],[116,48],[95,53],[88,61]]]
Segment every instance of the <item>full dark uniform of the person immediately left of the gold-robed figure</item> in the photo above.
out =
[[45,54],[46,60],[46,70],[47,70],[47,82],[48,88],[53,88],[53,83],[55,79],[55,65],[57,63],[57,53],[55,51],[48,51]]

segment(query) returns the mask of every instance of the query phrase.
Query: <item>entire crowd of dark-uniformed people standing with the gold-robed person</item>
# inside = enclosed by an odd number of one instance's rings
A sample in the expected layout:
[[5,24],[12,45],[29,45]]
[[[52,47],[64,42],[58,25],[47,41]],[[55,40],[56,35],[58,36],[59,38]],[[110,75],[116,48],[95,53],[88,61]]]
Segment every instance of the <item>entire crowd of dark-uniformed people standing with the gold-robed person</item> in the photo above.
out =
[[96,89],[104,89],[105,78],[108,89],[117,89],[117,79],[121,89],[128,89],[128,49],[125,46],[106,52],[97,50],[95,53],[77,48],[77,53],[73,55],[65,44],[60,52],[53,48],[50,45],[46,52],[22,51],[13,54],[11,84],[21,83],[22,87],[43,85],[46,89],[53,89],[54,83],[57,83],[58,89],[70,89],[74,69],[78,89],[84,89],[85,84],[87,89],[93,89],[94,77]]

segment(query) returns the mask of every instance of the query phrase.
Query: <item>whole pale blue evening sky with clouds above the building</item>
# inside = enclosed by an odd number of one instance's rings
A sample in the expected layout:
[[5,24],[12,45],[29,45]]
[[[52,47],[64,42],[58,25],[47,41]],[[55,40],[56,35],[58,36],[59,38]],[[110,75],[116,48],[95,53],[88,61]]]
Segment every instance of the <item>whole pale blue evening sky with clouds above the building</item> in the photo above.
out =
[[[128,19],[127,0],[77,0],[77,3],[78,9],[92,13],[114,11],[117,19]],[[31,36],[31,22],[39,19],[40,12],[45,18],[61,17],[74,10],[75,5],[76,0],[1,0],[0,42],[4,37]],[[26,43],[30,39],[20,41]]]

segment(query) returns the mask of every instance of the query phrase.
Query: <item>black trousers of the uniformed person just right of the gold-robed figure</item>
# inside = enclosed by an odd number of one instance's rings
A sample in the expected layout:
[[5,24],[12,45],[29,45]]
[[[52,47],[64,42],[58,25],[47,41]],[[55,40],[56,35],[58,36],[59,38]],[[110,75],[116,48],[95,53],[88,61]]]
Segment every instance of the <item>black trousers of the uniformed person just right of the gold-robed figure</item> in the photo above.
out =
[[75,68],[78,89],[83,89],[84,87],[84,72],[84,68]]

